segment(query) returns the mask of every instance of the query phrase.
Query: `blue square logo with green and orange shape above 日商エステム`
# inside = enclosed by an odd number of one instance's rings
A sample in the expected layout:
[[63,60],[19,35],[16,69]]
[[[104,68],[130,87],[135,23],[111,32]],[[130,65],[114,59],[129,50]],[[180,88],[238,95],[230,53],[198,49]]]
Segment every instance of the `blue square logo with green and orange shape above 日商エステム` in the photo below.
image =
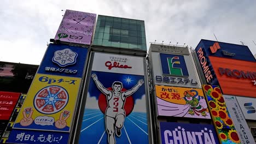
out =
[[188,77],[184,56],[160,53],[162,74]]

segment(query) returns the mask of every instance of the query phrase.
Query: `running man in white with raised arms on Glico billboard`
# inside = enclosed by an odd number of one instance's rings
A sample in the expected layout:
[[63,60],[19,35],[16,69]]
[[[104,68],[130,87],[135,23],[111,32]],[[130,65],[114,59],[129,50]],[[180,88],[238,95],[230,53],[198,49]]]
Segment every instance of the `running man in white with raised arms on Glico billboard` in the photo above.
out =
[[108,107],[105,111],[105,127],[108,133],[108,143],[115,144],[115,134],[118,137],[121,136],[121,128],[123,128],[125,121],[125,99],[135,93],[143,85],[144,81],[139,80],[132,89],[121,92],[123,83],[120,81],[113,82],[113,91],[110,91],[98,81],[96,74],[92,74],[91,77],[95,81],[97,88],[107,97]]

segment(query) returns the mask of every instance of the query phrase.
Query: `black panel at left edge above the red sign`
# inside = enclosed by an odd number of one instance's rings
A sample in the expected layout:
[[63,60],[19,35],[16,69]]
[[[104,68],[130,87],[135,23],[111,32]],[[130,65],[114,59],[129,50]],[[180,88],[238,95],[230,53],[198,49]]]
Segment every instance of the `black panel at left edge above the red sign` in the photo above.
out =
[[0,91],[27,93],[38,65],[0,62]]

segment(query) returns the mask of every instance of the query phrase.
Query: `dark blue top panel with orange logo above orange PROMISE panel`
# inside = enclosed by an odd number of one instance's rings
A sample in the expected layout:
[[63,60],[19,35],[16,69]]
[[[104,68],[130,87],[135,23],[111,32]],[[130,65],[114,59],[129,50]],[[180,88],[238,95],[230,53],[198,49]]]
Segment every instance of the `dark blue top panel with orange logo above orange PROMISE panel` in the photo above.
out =
[[200,47],[205,49],[208,56],[255,62],[252,52],[249,50],[249,47],[245,45],[236,45],[202,39],[197,45],[196,50],[200,49]]

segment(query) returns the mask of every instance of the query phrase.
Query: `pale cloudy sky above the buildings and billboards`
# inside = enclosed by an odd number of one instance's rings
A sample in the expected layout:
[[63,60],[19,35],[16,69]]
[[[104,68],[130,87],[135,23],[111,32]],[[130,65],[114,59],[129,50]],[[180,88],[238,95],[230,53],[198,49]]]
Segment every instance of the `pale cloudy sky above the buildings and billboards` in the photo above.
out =
[[201,39],[248,45],[256,53],[256,1],[15,1],[0,6],[0,61],[40,64],[64,11],[144,20],[149,42],[195,48]]

